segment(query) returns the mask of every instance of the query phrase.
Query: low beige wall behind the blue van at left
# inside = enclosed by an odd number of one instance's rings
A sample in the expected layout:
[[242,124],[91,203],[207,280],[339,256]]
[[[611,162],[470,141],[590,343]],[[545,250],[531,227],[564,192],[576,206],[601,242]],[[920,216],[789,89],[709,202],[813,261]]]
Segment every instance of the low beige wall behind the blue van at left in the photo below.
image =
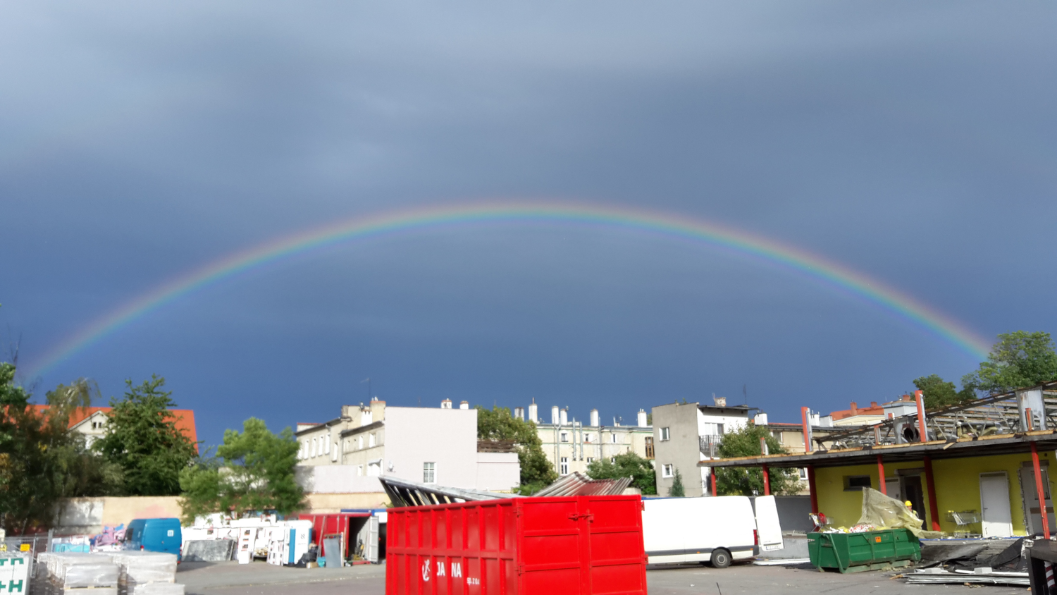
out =
[[94,535],[103,526],[128,524],[133,519],[177,517],[178,496],[67,498],[59,504],[56,535]]

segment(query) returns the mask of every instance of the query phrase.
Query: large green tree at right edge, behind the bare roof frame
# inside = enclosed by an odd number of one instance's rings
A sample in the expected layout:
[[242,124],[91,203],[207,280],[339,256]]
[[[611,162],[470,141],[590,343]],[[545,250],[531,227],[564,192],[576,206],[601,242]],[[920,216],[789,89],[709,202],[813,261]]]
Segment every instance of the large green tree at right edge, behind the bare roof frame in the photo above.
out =
[[990,394],[1057,380],[1057,352],[1050,333],[1016,331],[998,342],[980,369],[962,378],[962,386]]

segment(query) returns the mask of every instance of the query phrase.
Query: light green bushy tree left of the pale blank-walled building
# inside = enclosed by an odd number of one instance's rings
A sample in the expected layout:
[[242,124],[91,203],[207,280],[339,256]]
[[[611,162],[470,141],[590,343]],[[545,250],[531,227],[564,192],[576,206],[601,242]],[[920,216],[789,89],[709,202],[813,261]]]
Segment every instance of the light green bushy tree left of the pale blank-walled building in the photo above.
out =
[[184,522],[210,513],[289,515],[301,508],[304,489],[294,473],[298,449],[289,427],[275,434],[256,417],[242,424],[242,432],[226,430],[217,459],[202,459],[180,473]]

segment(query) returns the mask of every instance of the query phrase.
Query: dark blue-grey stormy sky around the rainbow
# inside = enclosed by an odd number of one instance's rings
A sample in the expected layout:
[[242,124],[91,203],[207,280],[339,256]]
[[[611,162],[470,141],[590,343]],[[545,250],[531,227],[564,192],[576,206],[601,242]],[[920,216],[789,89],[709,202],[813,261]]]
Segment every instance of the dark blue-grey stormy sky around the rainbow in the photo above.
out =
[[[1055,331],[1043,2],[7,3],[0,339],[32,362],[233,250],[396,208],[570,200],[734,225],[986,337]],[[5,350],[6,351],[6,350]],[[6,353],[4,355],[7,355]],[[569,226],[434,229],[234,279],[23,377],[163,375],[209,444],[374,393],[772,420],[976,358],[738,256]]]

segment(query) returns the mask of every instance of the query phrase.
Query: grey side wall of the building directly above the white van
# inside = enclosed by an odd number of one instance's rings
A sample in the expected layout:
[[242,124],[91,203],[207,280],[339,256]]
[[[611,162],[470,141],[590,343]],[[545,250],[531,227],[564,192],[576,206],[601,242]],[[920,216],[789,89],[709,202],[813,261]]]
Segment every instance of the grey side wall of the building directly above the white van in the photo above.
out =
[[[661,429],[669,428],[670,439],[661,440]],[[683,476],[686,496],[702,496],[702,472],[698,467],[698,404],[672,403],[653,408],[653,449],[656,457],[657,495],[668,496],[673,478],[665,478],[664,465],[672,464]]]

